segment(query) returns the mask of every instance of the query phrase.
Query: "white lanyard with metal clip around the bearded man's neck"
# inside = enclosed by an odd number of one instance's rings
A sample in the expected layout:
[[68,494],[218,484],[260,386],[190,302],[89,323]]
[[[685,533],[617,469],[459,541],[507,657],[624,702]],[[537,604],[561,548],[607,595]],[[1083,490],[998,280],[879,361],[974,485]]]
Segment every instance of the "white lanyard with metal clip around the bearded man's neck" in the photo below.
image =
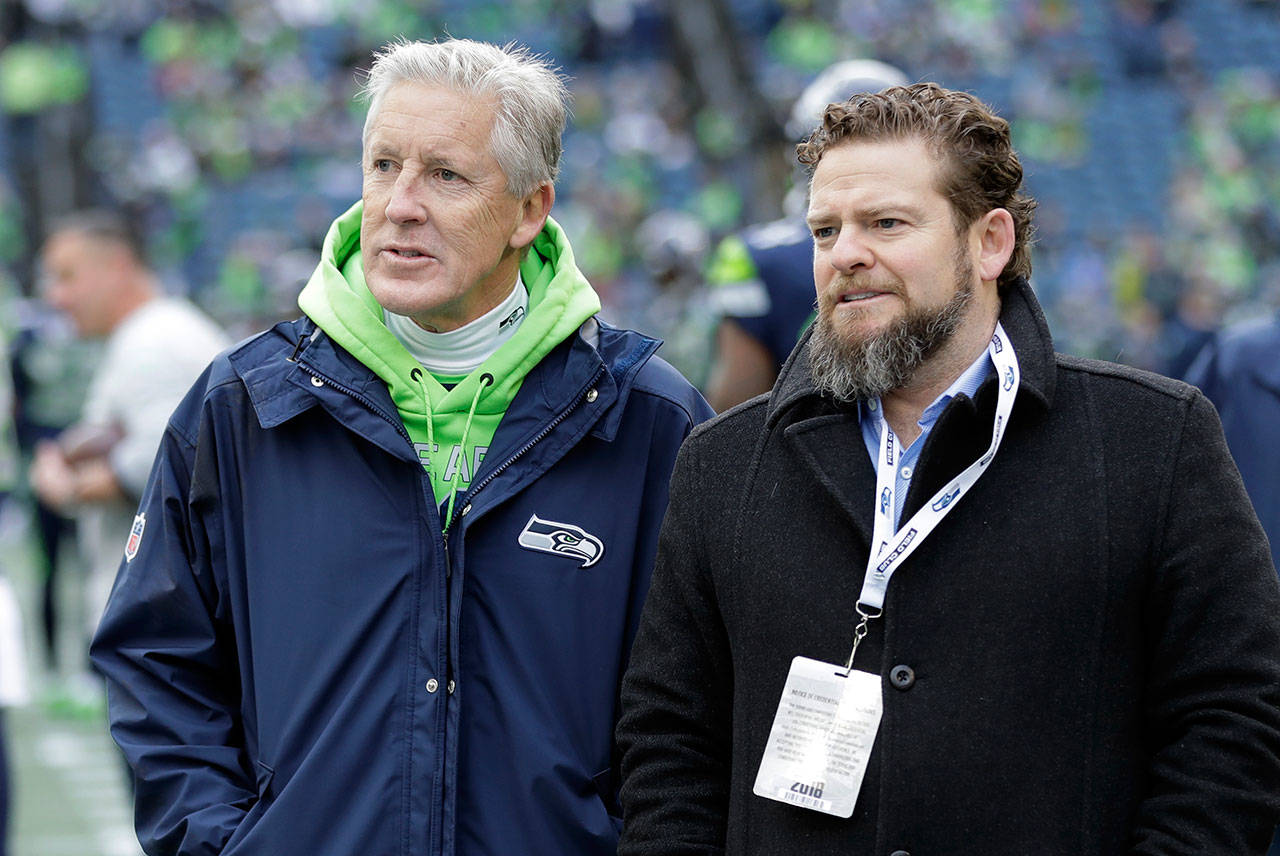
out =
[[[1000,449],[1000,441],[1005,435],[1005,426],[1009,425],[1009,415],[1014,409],[1014,398],[1016,398],[1018,388],[1021,385],[1021,371],[1018,367],[1014,344],[998,322],[995,335],[991,337],[991,344],[987,345],[987,353],[991,354],[996,375],[1000,377],[1000,398],[996,402],[996,420],[991,429],[991,445],[987,447],[986,454],[933,494],[929,502],[896,531],[893,530],[893,491],[896,489],[896,462],[901,457],[901,449],[897,438],[888,427],[888,422],[881,425],[883,430],[881,431],[879,458],[876,462],[876,527],[872,532],[872,551],[867,557],[863,591],[858,598],[858,614],[861,615],[861,621],[854,631],[854,649],[849,653],[846,670],[852,668],[858,645],[867,636],[867,623],[873,618],[879,618],[883,612],[884,592],[888,590],[888,581],[893,572],[937,528],[942,518],[969,493],[969,489],[978,484],[978,479],[996,458],[996,450]],[[883,420],[883,416],[881,418]]]

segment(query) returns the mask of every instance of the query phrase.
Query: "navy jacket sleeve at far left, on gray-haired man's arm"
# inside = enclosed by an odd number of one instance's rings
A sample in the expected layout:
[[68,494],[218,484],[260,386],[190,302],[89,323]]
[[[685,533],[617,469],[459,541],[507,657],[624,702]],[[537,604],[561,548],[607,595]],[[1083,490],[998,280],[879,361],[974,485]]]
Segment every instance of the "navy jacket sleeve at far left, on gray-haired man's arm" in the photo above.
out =
[[195,459],[195,444],[170,425],[143,493],[137,551],[120,566],[91,649],[152,856],[221,852],[257,798],[212,539],[189,502]]

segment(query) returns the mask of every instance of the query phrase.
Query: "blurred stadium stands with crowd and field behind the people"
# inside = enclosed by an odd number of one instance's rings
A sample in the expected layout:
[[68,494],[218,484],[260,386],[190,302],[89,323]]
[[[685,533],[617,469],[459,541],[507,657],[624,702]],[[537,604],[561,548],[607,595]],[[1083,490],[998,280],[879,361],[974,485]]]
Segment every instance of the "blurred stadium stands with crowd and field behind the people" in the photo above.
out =
[[[1059,349],[1180,375],[1210,331],[1280,305],[1275,0],[3,0],[0,331],[37,315],[45,229],[86,205],[125,207],[168,285],[236,334],[294,315],[360,194],[361,69],[443,33],[526,44],[572,77],[554,215],[607,317],[664,337],[695,383],[707,253],[781,214],[791,102],[846,58],[1012,122]],[[59,371],[42,394],[74,413],[83,366]],[[33,604],[22,499],[0,571]],[[44,691],[79,654],[42,663],[28,623],[13,852],[136,853],[100,709]]]

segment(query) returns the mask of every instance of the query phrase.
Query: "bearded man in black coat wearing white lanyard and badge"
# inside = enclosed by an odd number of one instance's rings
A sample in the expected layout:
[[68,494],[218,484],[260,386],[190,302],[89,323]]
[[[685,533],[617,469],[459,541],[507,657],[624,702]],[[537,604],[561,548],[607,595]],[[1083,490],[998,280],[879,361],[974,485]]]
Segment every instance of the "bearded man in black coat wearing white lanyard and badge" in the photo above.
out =
[[799,157],[818,320],[677,459],[620,853],[1265,852],[1280,591],[1213,408],[1053,353],[973,96],[854,96]]

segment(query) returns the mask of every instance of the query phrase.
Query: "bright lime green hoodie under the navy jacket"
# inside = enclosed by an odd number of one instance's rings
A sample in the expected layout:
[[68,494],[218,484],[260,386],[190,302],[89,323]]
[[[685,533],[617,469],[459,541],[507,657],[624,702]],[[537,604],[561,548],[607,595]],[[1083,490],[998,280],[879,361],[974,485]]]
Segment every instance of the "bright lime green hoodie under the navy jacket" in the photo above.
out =
[[[529,315],[479,369],[445,389],[438,377],[421,370],[383,322],[383,308],[369,290],[361,265],[362,209],[357,202],[329,228],[320,264],[298,296],[298,306],[387,383],[422,467],[430,473],[436,503],[448,498],[448,528],[453,502],[475,477],[525,375],[600,311],[600,298],[573,264],[564,232],[548,218],[520,264],[529,289]],[[494,383],[481,383],[485,374]]]

